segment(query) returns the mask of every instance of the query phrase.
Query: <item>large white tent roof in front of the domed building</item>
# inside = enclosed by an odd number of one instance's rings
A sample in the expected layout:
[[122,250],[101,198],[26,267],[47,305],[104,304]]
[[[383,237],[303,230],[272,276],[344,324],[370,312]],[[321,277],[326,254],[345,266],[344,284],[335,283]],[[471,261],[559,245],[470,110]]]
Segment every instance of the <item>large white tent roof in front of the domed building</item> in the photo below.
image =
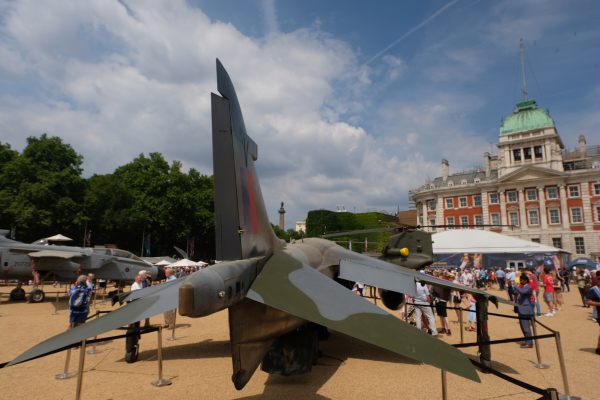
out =
[[452,229],[434,233],[431,238],[433,254],[567,253],[556,247],[479,229]]

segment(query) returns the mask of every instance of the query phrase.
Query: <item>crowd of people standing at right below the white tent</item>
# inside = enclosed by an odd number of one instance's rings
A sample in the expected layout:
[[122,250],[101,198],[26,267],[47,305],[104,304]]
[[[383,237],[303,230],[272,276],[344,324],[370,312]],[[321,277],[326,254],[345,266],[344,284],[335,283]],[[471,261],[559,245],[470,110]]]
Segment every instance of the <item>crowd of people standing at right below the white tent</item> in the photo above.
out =
[[[519,325],[523,333],[522,348],[533,346],[532,326],[535,317],[554,317],[564,307],[564,292],[570,292],[571,284],[577,285],[582,307],[593,306],[593,320],[600,324],[600,271],[590,271],[584,267],[571,269],[563,266],[556,258],[528,261],[523,268],[484,268],[481,255],[473,258],[465,254],[458,268],[425,269],[423,272],[454,283],[478,289],[505,291],[514,303],[514,312],[519,315]],[[476,331],[476,299],[464,291],[452,291],[450,297],[436,293],[435,287],[424,283],[417,284],[417,295],[407,298],[409,315],[414,318],[419,329],[426,329],[432,335],[451,335],[447,319],[447,303],[467,311],[465,330]],[[434,318],[439,317],[439,325]],[[402,314],[404,311],[401,312]],[[457,319],[460,310],[456,309]],[[437,327],[440,326],[440,329]],[[600,336],[596,353],[600,354]]]

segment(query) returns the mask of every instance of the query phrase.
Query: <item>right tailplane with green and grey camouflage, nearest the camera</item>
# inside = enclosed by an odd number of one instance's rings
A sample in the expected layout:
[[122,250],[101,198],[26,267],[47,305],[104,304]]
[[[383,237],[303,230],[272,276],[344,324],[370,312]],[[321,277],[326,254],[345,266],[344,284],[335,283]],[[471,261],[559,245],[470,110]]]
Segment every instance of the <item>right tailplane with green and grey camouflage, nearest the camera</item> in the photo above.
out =
[[291,255],[276,252],[247,297],[302,319],[479,382],[454,347],[356,296]]

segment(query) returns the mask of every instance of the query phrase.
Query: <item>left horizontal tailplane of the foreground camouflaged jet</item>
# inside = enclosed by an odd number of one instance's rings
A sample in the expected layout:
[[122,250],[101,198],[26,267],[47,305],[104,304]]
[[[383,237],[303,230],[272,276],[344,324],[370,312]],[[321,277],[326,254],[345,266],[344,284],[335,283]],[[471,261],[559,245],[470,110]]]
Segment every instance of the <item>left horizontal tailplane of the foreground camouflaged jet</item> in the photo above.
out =
[[136,291],[141,297],[105,316],[86,322],[74,329],[51,337],[27,350],[7,364],[8,366],[52,354],[65,346],[71,345],[100,335],[101,333],[126,326],[128,324],[149,318],[162,312],[173,310],[179,305],[179,286],[184,280],[173,281],[169,284],[150,286]]

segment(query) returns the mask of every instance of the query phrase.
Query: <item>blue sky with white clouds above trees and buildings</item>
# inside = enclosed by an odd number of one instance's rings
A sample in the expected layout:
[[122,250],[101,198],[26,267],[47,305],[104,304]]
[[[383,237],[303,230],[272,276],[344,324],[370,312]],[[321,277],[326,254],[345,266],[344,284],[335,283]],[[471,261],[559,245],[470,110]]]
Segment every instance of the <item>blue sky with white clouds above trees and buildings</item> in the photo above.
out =
[[212,173],[214,59],[228,69],[271,219],[406,208],[408,190],[482,165],[522,97],[569,148],[598,144],[596,1],[7,1],[0,141],[43,132],[109,173],[140,153]]

